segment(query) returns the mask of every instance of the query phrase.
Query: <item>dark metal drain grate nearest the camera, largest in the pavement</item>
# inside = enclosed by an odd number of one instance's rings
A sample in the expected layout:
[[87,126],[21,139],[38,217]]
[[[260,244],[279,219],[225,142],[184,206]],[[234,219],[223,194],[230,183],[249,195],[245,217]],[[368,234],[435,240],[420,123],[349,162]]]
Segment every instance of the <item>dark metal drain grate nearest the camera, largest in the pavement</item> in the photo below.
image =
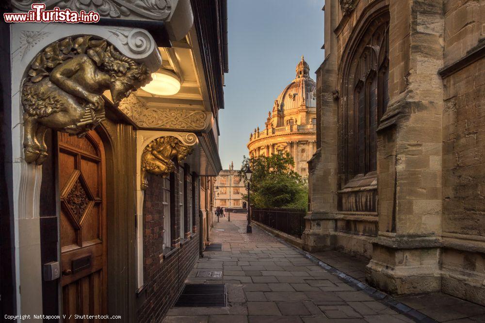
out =
[[175,307],[225,308],[225,284],[185,284]]

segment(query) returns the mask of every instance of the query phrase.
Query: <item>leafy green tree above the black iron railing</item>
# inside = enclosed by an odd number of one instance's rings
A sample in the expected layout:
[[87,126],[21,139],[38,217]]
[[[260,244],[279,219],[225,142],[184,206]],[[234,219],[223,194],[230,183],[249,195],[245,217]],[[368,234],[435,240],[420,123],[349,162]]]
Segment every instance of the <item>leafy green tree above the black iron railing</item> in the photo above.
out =
[[[251,178],[251,204],[261,208],[306,208],[308,187],[293,170],[295,163],[288,152],[269,157],[243,157],[240,176],[247,187],[245,172],[253,171]],[[242,197],[247,200],[247,194]]]

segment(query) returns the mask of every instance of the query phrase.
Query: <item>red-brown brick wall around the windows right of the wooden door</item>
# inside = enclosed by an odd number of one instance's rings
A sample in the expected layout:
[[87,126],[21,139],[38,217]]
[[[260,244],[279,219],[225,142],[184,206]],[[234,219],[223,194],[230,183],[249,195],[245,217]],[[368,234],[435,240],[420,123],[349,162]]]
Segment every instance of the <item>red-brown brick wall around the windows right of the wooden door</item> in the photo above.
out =
[[[173,176],[177,176],[175,173]],[[145,288],[140,293],[137,322],[161,322],[168,309],[177,300],[178,294],[199,256],[198,234],[178,247],[174,253],[163,259],[163,204],[162,181],[159,176],[148,174],[149,187],[144,200],[144,281]],[[172,191],[175,194],[175,215],[172,227],[178,234],[178,180],[175,178]],[[198,186],[196,186],[198,187]],[[194,190],[198,193],[198,189]],[[198,202],[198,196],[195,199]],[[197,204],[196,204],[197,205]],[[196,214],[198,215],[198,207]],[[199,227],[198,216],[195,226]],[[170,230],[167,228],[166,230]],[[178,236],[173,237],[178,238]]]

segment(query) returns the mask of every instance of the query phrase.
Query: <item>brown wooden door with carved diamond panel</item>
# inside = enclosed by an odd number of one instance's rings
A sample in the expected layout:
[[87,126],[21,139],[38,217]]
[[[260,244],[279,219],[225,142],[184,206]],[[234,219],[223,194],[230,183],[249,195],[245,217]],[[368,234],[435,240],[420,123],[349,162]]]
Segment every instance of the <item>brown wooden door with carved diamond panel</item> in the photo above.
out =
[[103,143],[95,131],[84,138],[58,133],[65,322],[75,322],[74,314],[96,315],[107,311],[104,154]]

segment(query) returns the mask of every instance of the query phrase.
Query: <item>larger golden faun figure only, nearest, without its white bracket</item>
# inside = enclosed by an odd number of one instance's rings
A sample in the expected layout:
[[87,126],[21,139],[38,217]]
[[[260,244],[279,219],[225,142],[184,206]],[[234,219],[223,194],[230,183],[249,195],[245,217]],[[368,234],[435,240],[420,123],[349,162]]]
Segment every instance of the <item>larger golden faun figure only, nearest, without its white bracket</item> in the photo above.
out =
[[48,128],[83,137],[104,119],[101,94],[118,104],[151,80],[150,71],[94,36],[67,37],[33,59],[22,87],[24,159],[41,165]]

